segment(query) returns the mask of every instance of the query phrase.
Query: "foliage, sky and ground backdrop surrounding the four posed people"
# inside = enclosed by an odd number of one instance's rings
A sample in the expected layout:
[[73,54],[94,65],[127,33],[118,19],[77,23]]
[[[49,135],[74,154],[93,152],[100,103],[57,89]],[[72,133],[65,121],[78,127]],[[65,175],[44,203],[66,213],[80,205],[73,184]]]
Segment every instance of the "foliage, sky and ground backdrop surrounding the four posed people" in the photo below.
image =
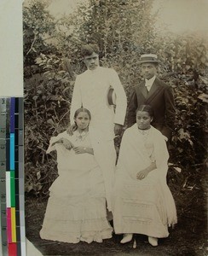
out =
[[[207,9],[203,0],[24,2],[26,236],[44,255],[205,255]],[[174,90],[167,182],[178,224],[159,247],[144,236],[136,236],[136,249],[120,245],[120,236],[90,245],[39,237],[49,186],[57,177],[55,154],[46,149],[49,138],[69,125],[73,84],[85,70],[80,47],[86,43],[99,44],[101,66],[118,72],[128,98],[142,79],[138,60],[144,53],[159,56],[159,77]]]

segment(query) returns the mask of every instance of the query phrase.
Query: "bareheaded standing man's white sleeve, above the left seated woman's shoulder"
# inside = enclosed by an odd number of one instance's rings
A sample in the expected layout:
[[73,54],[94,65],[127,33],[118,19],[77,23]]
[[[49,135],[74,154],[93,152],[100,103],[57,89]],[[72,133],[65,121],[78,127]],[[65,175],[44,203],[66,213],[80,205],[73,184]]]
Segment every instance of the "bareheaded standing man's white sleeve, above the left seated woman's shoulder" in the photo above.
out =
[[71,108],[70,108],[70,124],[71,125],[74,123],[73,117],[74,117],[75,111],[78,108],[81,108],[81,105],[82,105],[80,80],[81,80],[80,76],[77,76],[77,79],[75,80],[75,84],[73,87],[72,102],[71,102]]

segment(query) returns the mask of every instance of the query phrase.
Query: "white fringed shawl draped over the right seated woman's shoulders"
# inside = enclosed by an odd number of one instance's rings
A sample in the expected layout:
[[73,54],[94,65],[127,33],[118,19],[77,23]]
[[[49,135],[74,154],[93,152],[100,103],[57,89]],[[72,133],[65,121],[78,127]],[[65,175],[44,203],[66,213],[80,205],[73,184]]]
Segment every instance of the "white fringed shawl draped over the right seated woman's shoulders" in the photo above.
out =
[[[166,183],[169,159],[165,142],[167,138],[153,126],[150,128],[148,136],[153,143],[153,154],[156,161],[156,169],[152,172],[157,172],[161,189],[164,191],[162,219],[164,224],[168,224],[169,226],[171,224],[174,225],[177,222],[176,206]],[[145,148],[145,143],[141,133],[138,131],[137,124],[132,125],[129,129],[124,131],[118,157],[118,176],[116,176],[116,178],[122,177],[124,179],[131,178],[136,180],[136,173],[150,166],[151,162],[152,160],[147,154],[147,148]]]

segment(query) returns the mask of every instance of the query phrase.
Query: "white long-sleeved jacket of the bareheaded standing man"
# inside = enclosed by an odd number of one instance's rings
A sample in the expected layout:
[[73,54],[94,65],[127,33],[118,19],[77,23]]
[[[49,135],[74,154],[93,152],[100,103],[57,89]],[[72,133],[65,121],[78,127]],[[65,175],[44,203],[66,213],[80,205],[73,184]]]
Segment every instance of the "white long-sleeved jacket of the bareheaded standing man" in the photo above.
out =
[[[107,103],[107,92],[113,87],[116,94],[116,109]],[[90,127],[101,131],[106,140],[113,140],[114,124],[124,125],[127,100],[118,74],[112,68],[97,67],[77,76],[74,84],[70,111],[71,125],[75,111],[83,104],[90,110]]]

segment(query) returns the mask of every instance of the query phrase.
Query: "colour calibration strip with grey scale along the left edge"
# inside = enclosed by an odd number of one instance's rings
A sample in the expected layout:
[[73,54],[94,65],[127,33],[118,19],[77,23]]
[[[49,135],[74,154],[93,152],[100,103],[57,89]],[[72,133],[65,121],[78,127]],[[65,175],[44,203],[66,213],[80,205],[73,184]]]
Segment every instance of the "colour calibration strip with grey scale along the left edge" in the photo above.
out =
[[0,255],[26,255],[23,98],[0,98]]

